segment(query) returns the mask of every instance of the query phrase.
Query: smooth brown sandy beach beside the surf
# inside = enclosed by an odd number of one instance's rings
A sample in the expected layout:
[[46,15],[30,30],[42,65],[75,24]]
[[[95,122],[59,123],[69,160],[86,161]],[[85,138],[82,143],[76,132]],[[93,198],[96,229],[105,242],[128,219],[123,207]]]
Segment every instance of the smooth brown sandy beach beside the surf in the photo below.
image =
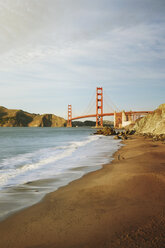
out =
[[165,144],[124,143],[111,164],[1,222],[0,247],[165,247]]

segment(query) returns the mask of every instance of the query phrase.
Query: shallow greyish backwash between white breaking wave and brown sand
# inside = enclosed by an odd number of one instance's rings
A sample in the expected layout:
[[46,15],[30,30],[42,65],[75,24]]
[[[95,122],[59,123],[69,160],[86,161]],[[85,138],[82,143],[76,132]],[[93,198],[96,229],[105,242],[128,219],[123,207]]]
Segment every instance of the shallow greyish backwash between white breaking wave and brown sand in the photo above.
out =
[[[113,141],[113,137],[110,137],[110,144]],[[12,215],[23,211],[37,203],[40,203],[47,194],[52,193],[69,185],[72,181],[82,178],[84,175],[99,170],[104,164],[110,163],[113,160],[114,151],[120,149],[121,142],[113,141],[111,144],[113,149],[104,150],[104,155],[101,155],[99,161],[86,161],[87,163],[80,166],[80,163],[75,167],[74,165],[61,173],[50,178],[37,179],[35,181],[27,181],[24,184],[13,185],[10,188],[4,188],[1,190],[0,196],[0,222],[10,218]],[[114,150],[114,151],[113,151]],[[103,152],[103,151],[102,151]],[[94,158],[95,159],[95,158]],[[102,160],[102,161],[101,161]],[[90,164],[92,163],[92,164]],[[25,193],[25,194],[24,194]]]

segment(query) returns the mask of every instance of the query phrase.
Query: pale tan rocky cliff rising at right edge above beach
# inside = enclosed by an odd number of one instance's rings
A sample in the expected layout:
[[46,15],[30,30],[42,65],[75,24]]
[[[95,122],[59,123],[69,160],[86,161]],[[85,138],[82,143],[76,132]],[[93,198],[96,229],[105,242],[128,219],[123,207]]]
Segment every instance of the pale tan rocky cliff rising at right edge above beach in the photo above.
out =
[[137,120],[130,129],[141,134],[165,134],[165,104],[161,104],[153,113]]

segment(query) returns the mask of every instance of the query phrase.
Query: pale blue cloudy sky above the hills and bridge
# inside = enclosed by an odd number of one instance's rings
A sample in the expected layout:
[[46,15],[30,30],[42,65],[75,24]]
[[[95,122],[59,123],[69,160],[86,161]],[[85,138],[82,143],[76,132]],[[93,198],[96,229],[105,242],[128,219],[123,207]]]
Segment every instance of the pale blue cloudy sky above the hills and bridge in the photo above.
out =
[[120,110],[157,108],[164,13],[164,0],[0,0],[0,105],[81,115],[102,86]]

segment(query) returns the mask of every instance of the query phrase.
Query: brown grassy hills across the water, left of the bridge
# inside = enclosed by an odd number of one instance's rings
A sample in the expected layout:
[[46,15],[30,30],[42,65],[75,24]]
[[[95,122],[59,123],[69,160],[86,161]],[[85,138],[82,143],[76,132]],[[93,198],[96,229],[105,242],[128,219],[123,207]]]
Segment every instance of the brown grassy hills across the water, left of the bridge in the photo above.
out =
[[34,114],[0,106],[0,127],[64,127],[66,120],[54,114]]

